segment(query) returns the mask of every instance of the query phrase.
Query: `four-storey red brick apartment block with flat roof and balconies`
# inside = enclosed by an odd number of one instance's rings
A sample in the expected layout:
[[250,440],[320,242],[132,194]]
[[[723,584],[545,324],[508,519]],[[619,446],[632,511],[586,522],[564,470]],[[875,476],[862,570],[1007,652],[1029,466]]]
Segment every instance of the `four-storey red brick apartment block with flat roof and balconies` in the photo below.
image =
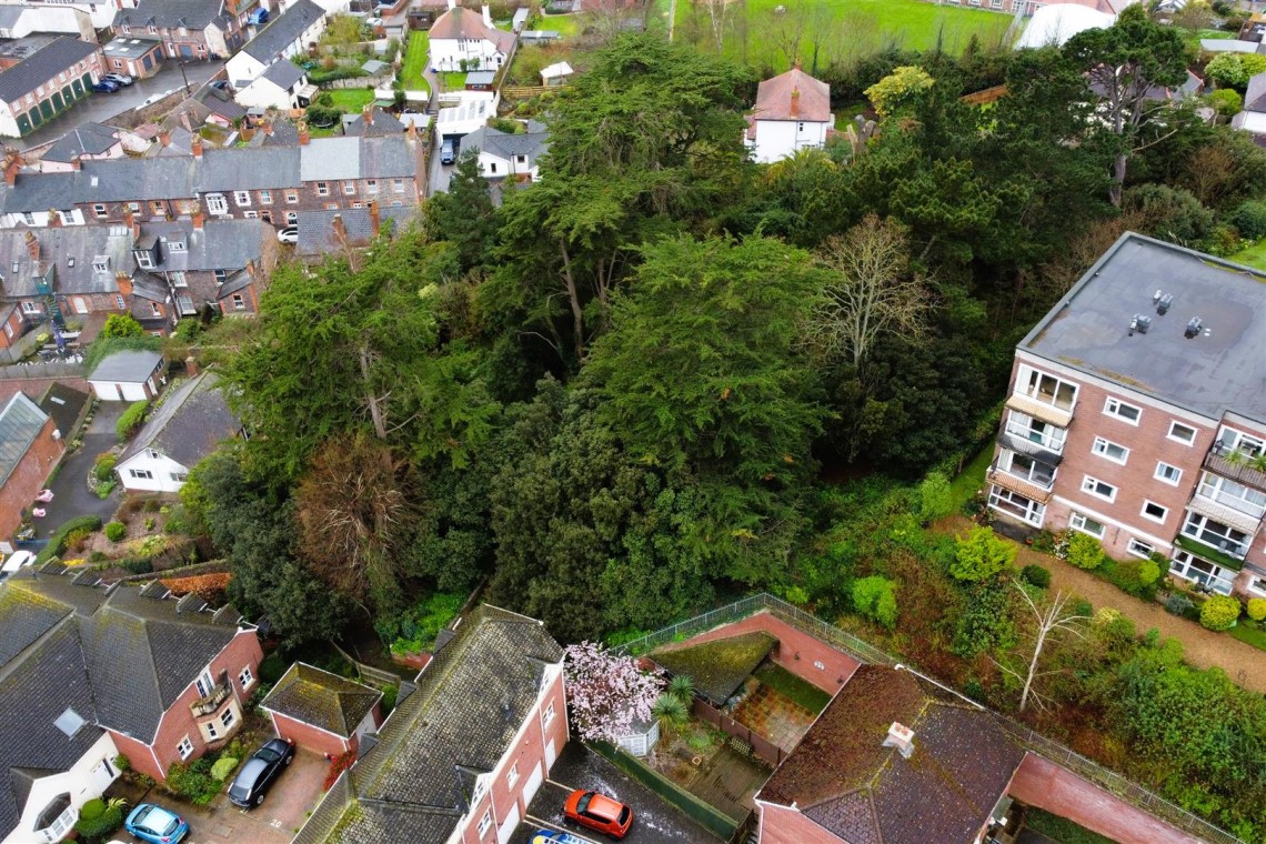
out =
[[1015,351],[989,506],[1266,596],[1266,275],[1123,235]]

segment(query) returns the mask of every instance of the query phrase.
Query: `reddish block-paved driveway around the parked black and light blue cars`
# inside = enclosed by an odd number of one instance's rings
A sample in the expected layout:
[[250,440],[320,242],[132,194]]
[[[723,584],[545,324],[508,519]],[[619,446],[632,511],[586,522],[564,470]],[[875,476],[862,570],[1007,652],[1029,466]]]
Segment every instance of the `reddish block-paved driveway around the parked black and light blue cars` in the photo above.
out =
[[[152,802],[171,809],[189,821],[190,835],[185,844],[289,844],[295,833],[316,807],[329,762],[311,750],[300,749],[295,760],[277,778],[262,806],[251,811],[229,802],[224,792],[210,806],[189,806],[163,800],[161,792],[151,791]],[[120,830],[116,838],[129,844],[144,844]]]

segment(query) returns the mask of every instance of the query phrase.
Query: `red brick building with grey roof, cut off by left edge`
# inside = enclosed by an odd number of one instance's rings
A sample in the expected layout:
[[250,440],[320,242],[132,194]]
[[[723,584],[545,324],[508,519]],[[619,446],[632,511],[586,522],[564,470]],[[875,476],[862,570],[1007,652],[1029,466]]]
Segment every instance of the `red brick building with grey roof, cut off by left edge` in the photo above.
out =
[[11,553],[22,524],[48,473],[66,452],[52,416],[19,392],[0,411],[0,550]]

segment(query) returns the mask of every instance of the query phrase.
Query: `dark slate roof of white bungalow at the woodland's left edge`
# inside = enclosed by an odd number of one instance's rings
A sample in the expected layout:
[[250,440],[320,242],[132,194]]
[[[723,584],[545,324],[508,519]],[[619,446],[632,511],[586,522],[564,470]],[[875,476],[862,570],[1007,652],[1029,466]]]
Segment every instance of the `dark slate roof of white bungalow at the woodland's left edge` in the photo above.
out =
[[214,372],[203,372],[176,387],[123,452],[119,464],[152,448],[184,467],[192,467],[222,440],[242,430],[218,382]]

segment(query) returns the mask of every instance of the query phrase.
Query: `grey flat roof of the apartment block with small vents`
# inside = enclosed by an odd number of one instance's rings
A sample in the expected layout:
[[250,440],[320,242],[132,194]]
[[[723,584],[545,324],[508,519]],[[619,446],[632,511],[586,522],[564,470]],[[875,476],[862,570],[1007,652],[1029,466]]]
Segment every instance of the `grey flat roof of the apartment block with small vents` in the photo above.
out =
[[1019,345],[1189,410],[1266,423],[1266,273],[1134,233]]

